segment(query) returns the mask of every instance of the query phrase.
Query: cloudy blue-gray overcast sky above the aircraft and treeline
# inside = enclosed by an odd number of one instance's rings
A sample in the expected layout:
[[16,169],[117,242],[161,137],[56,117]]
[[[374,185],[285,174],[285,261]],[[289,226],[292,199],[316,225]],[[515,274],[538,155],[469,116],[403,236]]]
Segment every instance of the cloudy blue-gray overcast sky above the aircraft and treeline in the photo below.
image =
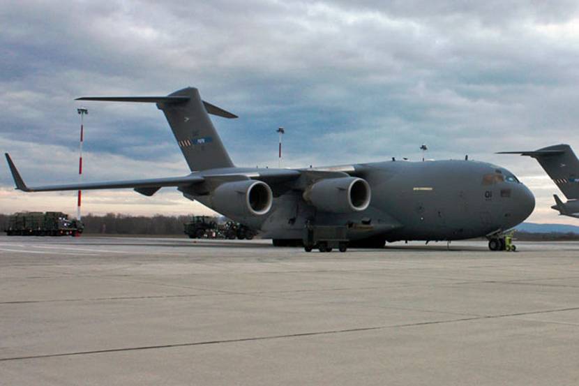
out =
[[[474,5],[472,4],[474,3]],[[469,158],[534,192],[557,187],[536,161],[496,151],[579,151],[577,1],[2,1],[0,144],[29,184],[77,181],[74,98],[165,95],[187,86],[239,115],[212,117],[236,165]],[[188,172],[154,105],[84,103],[85,181]],[[74,193],[24,194],[0,168],[0,211],[75,212]],[[90,191],[84,211],[186,214],[153,198]]]

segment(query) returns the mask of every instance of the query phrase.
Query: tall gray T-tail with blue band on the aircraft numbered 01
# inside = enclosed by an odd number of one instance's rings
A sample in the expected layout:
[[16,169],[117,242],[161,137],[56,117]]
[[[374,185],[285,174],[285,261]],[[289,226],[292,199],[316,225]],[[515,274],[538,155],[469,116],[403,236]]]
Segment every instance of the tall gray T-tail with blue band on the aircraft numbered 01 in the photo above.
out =
[[77,100],[156,103],[165,114],[191,171],[234,166],[209,114],[230,119],[237,116],[202,101],[199,90],[193,87],[168,96],[91,96]]

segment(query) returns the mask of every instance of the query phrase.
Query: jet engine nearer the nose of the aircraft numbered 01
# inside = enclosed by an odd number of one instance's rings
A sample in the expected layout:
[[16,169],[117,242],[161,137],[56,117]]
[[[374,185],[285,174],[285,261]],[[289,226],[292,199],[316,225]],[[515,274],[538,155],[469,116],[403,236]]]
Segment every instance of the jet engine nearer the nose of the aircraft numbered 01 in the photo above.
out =
[[303,191],[303,199],[331,213],[363,211],[370,205],[370,185],[357,177],[321,179]]

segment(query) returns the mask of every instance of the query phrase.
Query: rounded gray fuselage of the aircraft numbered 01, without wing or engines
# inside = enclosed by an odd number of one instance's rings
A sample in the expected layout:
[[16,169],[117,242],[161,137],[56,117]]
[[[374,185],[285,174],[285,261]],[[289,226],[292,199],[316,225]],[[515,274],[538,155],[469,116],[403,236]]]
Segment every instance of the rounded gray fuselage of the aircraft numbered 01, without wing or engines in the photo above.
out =
[[[260,172],[232,168],[223,172]],[[317,168],[344,171],[368,181],[370,206],[332,214],[317,210],[299,189],[287,186],[273,199],[266,216],[225,216],[262,230],[273,239],[301,239],[307,221],[348,225],[349,239],[455,240],[508,230],[532,213],[534,196],[504,168],[478,161],[386,161]],[[269,172],[275,172],[269,169]],[[211,207],[211,200],[193,196]]]

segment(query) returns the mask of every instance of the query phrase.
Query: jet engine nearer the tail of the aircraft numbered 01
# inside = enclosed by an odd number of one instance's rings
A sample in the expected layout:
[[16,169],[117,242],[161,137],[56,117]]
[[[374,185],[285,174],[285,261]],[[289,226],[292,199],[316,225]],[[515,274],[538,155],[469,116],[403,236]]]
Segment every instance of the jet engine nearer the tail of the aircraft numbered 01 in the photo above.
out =
[[225,215],[262,216],[271,209],[273,194],[262,181],[226,182],[211,193],[213,209]]

